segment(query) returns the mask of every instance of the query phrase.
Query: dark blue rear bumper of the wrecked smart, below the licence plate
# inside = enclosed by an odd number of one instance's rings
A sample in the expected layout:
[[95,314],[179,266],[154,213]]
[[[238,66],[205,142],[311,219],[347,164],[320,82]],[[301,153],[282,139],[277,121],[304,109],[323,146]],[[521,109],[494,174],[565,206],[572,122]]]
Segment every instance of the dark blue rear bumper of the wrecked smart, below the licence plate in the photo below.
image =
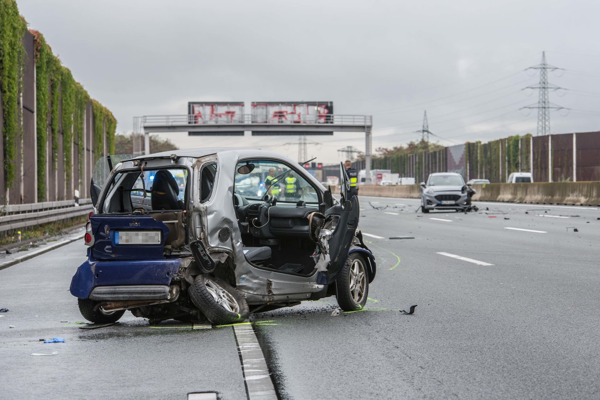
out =
[[136,261],[95,261],[88,258],[71,279],[71,294],[87,299],[92,289],[109,285],[169,285],[181,258]]

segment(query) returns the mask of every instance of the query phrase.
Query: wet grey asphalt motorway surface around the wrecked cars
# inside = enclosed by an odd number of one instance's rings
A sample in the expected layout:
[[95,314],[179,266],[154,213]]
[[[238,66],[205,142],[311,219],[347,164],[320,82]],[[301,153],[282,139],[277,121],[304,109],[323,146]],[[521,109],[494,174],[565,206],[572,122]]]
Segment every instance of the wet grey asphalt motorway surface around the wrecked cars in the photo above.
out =
[[[251,318],[281,399],[600,398],[600,210],[360,201],[379,262],[367,308],[334,317],[330,298]],[[1,398],[247,398],[231,326],[127,312],[79,329],[68,287],[84,258],[76,242],[0,270]],[[55,336],[67,342],[39,341]]]

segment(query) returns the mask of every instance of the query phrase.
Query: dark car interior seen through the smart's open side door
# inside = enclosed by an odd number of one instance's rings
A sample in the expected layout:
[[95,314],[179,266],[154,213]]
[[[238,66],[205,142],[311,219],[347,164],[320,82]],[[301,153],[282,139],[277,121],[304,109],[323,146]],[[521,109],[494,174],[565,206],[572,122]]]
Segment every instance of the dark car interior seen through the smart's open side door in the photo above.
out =
[[264,269],[311,275],[315,243],[310,238],[309,218],[319,210],[318,193],[285,164],[270,160],[239,163],[233,202],[246,259]]

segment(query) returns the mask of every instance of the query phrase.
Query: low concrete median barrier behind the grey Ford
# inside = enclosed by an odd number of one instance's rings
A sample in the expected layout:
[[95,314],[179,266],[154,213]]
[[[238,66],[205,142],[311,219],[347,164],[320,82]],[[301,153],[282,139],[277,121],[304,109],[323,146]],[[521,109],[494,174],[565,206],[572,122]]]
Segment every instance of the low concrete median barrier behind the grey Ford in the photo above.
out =
[[[600,182],[536,182],[533,184],[473,185],[475,201],[513,201],[533,204],[600,206]],[[332,188],[339,193],[339,188]],[[419,185],[359,187],[359,196],[421,197]]]

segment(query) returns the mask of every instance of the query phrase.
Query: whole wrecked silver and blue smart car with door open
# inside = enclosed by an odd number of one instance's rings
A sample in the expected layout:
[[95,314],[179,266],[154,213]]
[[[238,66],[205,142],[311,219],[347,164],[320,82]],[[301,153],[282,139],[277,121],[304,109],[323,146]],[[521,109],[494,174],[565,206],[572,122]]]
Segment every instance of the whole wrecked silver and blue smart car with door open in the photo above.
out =
[[341,200],[274,152],[206,148],[98,161],[88,258],[70,291],[84,318],[215,324],[335,296],[367,301],[376,262],[358,230],[340,165]]

